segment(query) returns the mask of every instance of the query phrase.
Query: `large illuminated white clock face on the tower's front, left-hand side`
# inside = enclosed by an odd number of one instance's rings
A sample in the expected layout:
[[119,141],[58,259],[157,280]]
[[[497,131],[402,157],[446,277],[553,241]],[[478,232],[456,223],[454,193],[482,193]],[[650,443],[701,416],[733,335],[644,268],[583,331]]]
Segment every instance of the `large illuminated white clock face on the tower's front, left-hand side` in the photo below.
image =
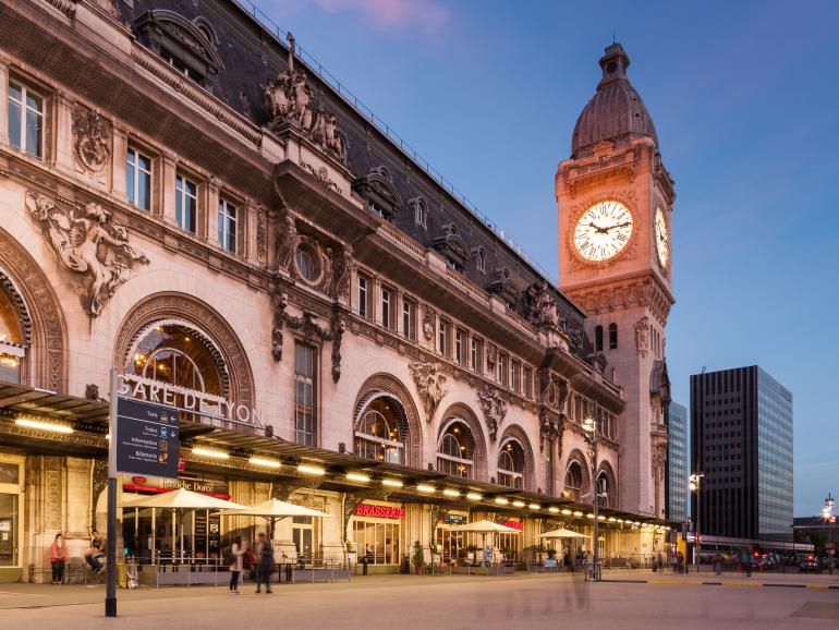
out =
[[632,235],[632,213],[609,199],[588,208],[574,228],[574,245],[588,261],[608,261],[617,256]]

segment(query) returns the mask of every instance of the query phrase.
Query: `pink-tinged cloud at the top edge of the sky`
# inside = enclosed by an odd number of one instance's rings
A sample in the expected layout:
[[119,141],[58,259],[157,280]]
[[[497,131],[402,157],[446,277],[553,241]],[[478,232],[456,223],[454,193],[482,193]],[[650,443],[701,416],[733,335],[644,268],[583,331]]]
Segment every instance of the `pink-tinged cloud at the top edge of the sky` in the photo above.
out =
[[445,26],[451,12],[437,0],[307,0],[327,13],[358,13],[377,28]]

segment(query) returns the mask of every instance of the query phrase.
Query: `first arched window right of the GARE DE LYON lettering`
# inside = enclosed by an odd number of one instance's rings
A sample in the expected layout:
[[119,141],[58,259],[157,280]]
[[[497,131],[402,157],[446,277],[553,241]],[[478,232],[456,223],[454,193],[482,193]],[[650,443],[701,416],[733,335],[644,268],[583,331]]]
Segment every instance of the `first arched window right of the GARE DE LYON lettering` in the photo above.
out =
[[355,429],[355,455],[388,463],[405,463],[408,420],[401,403],[390,397],[374,399]]

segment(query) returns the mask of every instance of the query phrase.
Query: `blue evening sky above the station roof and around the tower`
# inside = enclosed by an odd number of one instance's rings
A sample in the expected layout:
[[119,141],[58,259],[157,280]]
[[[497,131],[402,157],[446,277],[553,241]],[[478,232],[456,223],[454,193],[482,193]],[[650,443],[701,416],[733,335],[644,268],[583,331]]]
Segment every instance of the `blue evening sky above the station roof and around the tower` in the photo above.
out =
[[795,514],[839,494],[839,3],[256,0],[556,275],[554,175],[612,32],[676,180],[667,356],[794,397]]

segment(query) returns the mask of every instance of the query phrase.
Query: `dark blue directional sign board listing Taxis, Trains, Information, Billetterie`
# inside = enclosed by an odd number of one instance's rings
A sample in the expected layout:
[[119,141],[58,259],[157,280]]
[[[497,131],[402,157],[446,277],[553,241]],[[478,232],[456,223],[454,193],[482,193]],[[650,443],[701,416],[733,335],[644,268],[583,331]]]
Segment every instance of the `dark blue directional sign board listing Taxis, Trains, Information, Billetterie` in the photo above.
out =
[[162,404],[117,400],[117,471],[178,477],[178,410]]

